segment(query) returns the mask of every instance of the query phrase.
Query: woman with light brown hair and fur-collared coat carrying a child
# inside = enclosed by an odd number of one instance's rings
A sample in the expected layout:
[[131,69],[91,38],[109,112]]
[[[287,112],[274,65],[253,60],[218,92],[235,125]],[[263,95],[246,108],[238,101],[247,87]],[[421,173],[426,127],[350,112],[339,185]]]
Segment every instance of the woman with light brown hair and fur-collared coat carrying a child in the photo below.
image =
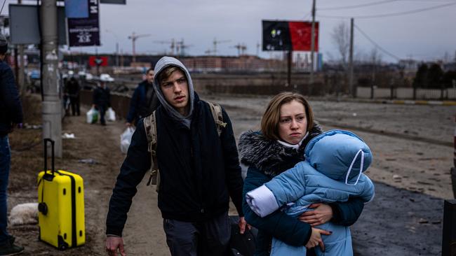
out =
[[[344,203],[312,204],[314,211],[293,218],[276,211],[260,218],[248,206],[246,193],[267,183],[274,176],[304,160],[304,149],[311,140],[321,134],[314,122],[308,102],[301,94],[283,92],[277,94],[267,106],[261,121],[261,131],[246,131],[239,138],[239,154],[246,176],[243,187],[243,213],[247,222],[259,229],[255,255],[269,255],[271,238],[290,246],[324,247],[321,235],[327,230],[314,226],[328,221],[336,225],[353,225],[363,211],[363,200],[356,197]],[[307,255],[314,255],[307,250]]]

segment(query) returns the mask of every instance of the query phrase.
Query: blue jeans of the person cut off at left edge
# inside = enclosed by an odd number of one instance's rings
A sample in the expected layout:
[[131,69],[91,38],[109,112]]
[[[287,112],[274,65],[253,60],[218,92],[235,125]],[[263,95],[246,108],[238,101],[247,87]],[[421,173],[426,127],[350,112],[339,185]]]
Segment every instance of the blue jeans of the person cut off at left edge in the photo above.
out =
[[11,151],[7,136],[0,136],[0,245],[8,239],[8,177],[10,174]]

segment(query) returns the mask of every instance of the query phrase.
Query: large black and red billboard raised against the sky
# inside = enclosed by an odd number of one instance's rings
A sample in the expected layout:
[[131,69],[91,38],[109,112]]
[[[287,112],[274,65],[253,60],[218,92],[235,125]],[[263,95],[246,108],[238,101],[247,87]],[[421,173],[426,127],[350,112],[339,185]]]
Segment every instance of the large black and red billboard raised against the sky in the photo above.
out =
[[[263,20],[263,50],[311,50],[311,22]],[[318,22],[315,22],[315,48],[318,52]]]

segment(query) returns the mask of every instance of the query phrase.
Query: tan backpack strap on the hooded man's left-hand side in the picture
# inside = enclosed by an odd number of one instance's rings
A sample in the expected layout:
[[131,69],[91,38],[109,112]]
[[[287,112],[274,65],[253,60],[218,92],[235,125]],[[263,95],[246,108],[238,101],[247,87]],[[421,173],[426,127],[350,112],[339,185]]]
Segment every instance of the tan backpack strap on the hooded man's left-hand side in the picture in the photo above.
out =
[[156,190],[159,190],[160,185],[160,173],[159,173],[159,166],[157,166],[156,161],[156,118],[155,118],[155,111],[152,114],[147,115],[144,118],[144,128],[146,131],[147,136],[147,144],[148,148],[147,151],[150,152],[150,159],[151,159],[151,173],[149,176],[149,181],[147,185],[150,183],[156,185]]

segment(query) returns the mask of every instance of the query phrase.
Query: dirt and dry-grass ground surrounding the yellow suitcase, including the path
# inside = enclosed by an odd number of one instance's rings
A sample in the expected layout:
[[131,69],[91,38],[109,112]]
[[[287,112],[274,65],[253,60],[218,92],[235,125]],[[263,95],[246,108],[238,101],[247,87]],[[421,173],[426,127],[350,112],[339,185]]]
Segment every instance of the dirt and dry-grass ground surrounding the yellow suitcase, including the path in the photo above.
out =
[[[86,109],[82,112],[86,113]],[[63,139],[63,157],[56,159],[55,166],[58,169],[73,171],[83,177],[86,245],[61,252],[38,241],[36,225],[10,227],[11,233],[17,236],[17,243],[25,246],[24,255],[106,255],[105,220],[109,197],[125,157],[119,148],[119,136],[124,128],[123,121],[108,122],[106,127],[102,127],[99,124],[87,124],[83,115],[65,118],[62,133],[73,133],[76,138]],[[18,131],[11,136],[13,168],[11,197],[8,202],[10,209],[16,204],[36,201],[34,183],[36,174],[43,168],[42,145],[32,150],[14,151],[14,146],[19,144],[19,140],[23,139],[24,133],[27,132],[30,131]],[[35,132],[40,133],[41,130]],[[79,162],[81,159],[93,159],[96,164],[81,163]],[[21,173],[20,170],[23,171],[25,167],[21,162],[33,162],[34,166],[27,169],[27,173]],[[24,186],[25,184],[29,185]],[[139,185],[124,231],[124,239],[128,255],[169,254],[153,187]]]

